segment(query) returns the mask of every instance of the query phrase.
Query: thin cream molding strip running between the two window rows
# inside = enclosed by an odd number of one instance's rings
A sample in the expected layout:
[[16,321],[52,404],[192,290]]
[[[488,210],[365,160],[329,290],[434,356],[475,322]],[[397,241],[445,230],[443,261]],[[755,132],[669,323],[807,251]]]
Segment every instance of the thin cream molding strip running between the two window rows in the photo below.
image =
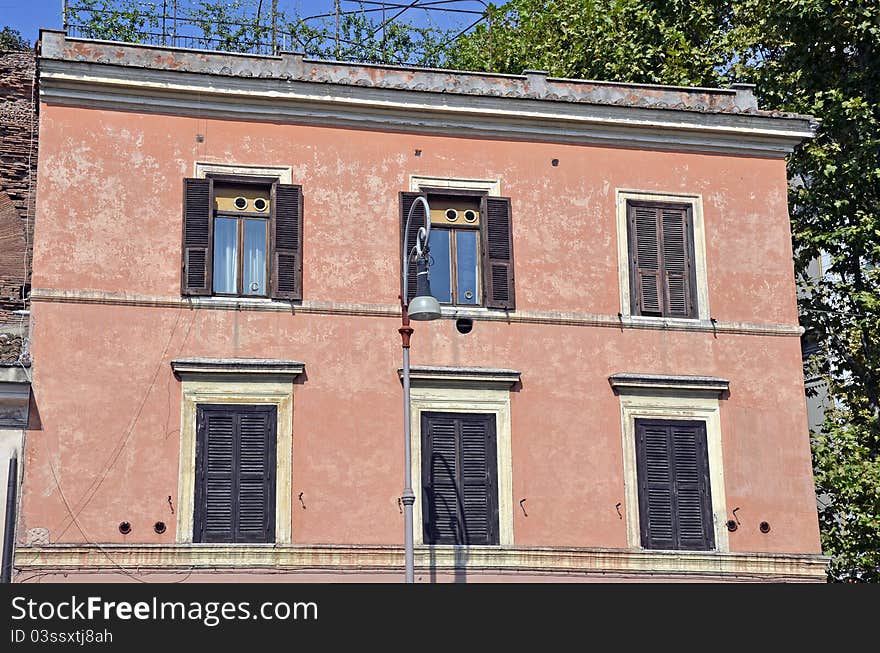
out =
[[[400,319],[396,304],[355,304],[331,301],[282,302],[271,299],[225,297],[179,297],[137,293],[115,293],[93,290],[36,289],[31,301],[59,304],[105,304],[108,306],[142,306],[151,308],[209,309],[218,311],[265,311],[312,315],[352,315],[357,317],[394,317]],[[448,309],[448,310],[447,310]],[[711,322],[710,320],[677,320],[674,318],[643,318],[568,311],[496,311],[486,308],[441,307],[444,319],[468,317],[474,321],[507,324],[555,324],[612,329],[647,329],[652,331],[691,331],[713,334],[786,336],[799,338],[803,327],[796,324],[754,322]]]

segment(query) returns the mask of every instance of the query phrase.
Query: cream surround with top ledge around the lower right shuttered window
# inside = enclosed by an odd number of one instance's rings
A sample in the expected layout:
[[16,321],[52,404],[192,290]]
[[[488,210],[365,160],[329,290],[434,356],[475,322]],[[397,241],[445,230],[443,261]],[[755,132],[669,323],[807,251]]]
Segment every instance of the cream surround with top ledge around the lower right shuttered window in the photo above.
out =
[[[642,549],[636,472],[636,419],[694,420],[706,424],[709,488],[712,494],[712,520],[715,533],[714,550],[730,551],[719,406],[719,396],[727,389],[727,381],[711,377],[629,374],[613,375],[609,380],[620,396],[626,535],[629,547]],[[677,553],[688,555],[692,552],[677,551]]]

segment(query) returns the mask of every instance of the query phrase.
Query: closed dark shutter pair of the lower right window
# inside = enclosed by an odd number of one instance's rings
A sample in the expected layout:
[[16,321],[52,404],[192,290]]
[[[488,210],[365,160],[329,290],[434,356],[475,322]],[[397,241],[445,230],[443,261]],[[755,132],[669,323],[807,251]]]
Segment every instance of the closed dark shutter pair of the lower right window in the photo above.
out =
[[636,465],[642,546],[713,549],[705,422],[636,420]]

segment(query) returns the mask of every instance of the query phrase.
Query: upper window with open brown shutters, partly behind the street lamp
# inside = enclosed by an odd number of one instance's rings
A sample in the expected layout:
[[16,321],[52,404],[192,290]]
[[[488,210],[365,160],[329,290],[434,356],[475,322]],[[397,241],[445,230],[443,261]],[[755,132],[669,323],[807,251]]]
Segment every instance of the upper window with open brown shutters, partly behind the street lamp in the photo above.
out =
[[[441,304],[516,308],[513,279],[513,231],[510,199],[444,189],[400,194],[402,256],[416,242],[425,224],[425,210],[416,204],[409,241],[403,243],[406,218],[416,197],[431,206],[431,291]],[[408,299],[415,296],[415,263],[410,263]]]

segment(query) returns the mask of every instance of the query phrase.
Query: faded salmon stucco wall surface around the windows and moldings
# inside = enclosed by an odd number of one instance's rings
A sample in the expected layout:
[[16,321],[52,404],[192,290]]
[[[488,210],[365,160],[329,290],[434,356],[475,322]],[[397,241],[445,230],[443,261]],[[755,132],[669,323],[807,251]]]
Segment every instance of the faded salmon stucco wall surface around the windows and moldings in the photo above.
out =
[[[397,192],[422,174],[501,180],[513,199],[518,309],[617,314],[618,187],[702,193],[712,315],[796,323],[779,160],[53,106],[41,121],[35,289],[179,297],[180,180],[198,160],[293,166],[304,187],[309,300],[396,300]],[[400,543],[398,326],[34,303],[41,428],[28,434],[19,532],[49,528],[53,542],[173,542],[166,497],[176,508],[180,386],[170,360],[277,357],[305,362],[307,373],[294,391],[293,541]],[[728,512],[739,507],[743,522],[731,550],[819,551],[797,338],[480,321],[460,335],[451,320],[415,327],[414,365],[522,372],[511,395],[517,545],[627,546],[615,509],[624,507],[620,403],[608,376],[647,372],[731,380],[721,401],[724,471]],[[66,530],[65,500],[78,513]],[[152,531],[160,519],[169,526],[162,536]],[[119,534],[122,520],[131,535]],[[757,528],[764,520],[766,535]]]

